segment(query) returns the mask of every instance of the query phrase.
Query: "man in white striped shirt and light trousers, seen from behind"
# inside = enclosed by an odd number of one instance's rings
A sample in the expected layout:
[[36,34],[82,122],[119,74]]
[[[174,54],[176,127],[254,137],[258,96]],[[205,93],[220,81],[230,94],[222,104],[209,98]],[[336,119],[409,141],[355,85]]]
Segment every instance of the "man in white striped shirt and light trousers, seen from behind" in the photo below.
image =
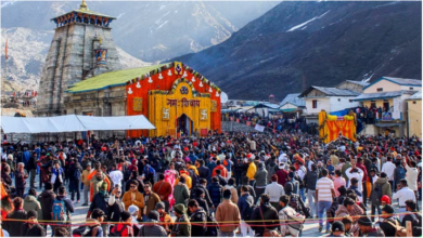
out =
[[[322,177],[318,180],[316,185],[316,197],[318,201],[318,215],[319,215],[319,233],[323,229],[323,213],[331,209],[332,198],[335,197],[335,189],[333,182],[328,177],[329,172],[326,169],[322,170]],[[330,224],[326,221],[326,233],[329,234]]]

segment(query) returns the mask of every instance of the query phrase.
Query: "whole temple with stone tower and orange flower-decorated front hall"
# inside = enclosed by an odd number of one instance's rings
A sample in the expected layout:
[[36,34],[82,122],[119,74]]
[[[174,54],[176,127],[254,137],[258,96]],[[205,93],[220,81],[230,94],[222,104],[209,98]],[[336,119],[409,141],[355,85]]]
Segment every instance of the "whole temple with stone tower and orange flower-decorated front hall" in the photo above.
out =
[[110,28],[114,19],[89,11],[85,1],[79,10],[52,19],[56,29],[42,71],[37,116],[144,115],[156,127],[130,130],[127,136],[220,132],[221,91],[200,72],[179,62],[119,70]]

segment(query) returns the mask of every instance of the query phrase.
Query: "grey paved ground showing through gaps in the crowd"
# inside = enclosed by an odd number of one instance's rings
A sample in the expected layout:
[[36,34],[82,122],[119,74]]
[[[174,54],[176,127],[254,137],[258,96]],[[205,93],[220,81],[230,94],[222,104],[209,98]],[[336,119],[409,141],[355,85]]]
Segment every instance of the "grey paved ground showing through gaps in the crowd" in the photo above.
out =
[[[39,195],[41,193],[41,189],[38,189],[38,187],[39,187],[38,182],[39,182],[39,178],[38,178],[38,175],[37,175],[37,177],[36,177],[36,187],[37,187],[37,193]],[[29,185],[29,180],[27,180],[27,185]],[[25,193],[27,193],[27,190],[25,190]],[[70,195],[67,195],[67,197],[70,198]],[[306,197],[307,197],[307,195],[306,195]],[[72,215],[73,224],[79,224],[79,223],[86,221],[88,207],[82,207],[81,206],[82,202],[84,202],[84,198],[82,198],[82,191],[81,191],[80,202],[74,204],[75,206],[75,213],[73,213],[73,215]],[[395,208],[397,210],[397,207],[398,207],[397,206],[397,201],[394,201],[394,206],[395,206]],[[419,201],[419,208],[422,208],[421,206],[422,206],[422,203],[421,203],[421,201]],[[368,214],[370,215],[370,204],[368,206]],[[175,219],[175,217],[172,217],[172,219]],[[322,233],[318,232],[319,220],[315,220],[315,221],[313,220],[309,220],[309,221],[307,221],[305,223],[305,226],[304,226],[304,229],[303,229],[303,237],[319,237],[319,236],[324,235],[324,229],[322,230]],[[77,226],[75,226],[75,227],[77,227]],[[48,232],[48,236],[51,236],[50,228],[48,228],[47,232]],[[238,235],[238,236],[241,237],[241,235]]]

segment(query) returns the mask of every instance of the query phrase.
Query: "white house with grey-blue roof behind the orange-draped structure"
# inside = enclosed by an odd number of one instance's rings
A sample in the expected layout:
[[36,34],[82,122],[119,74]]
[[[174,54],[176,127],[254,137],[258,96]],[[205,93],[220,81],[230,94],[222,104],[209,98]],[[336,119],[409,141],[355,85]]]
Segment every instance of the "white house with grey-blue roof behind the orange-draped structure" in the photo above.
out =
[[318,115],[321,110],[328,114],[344,110],[346,108],[360,106],[359,102],[352,100],[359,93],[349,89],[324,88],[311,85],[298,97],[306,102],[307,113],[304,116],[308,123],[318,123]]

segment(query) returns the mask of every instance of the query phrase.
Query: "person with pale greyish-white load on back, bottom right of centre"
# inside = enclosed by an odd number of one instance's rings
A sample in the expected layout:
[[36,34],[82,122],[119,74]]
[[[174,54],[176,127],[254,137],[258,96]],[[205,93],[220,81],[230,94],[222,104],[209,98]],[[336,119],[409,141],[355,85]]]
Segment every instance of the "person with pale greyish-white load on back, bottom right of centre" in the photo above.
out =
[[281,236],[285,237],[291,235],[293,237],[298,237],[303,230],[303,224],[306,216],[291,208],[289,204],[290,200],[290,197],[286,195],[281,196],[279,199],[279,204],[282,208],[278,213],[281,223]]

